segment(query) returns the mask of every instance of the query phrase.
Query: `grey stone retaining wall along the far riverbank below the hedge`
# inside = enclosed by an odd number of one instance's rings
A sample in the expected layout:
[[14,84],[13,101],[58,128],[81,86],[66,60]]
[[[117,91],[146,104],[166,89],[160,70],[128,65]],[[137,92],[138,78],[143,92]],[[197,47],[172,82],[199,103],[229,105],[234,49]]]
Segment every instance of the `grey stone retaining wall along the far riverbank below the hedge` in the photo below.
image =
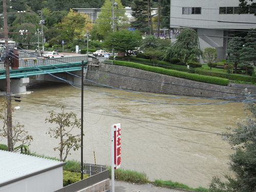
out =
[[[88,71],[86,78],[126,90],[206,98],[241,96],[244,95],[243,91],[245,89],[245,87],[236,87],[236,84],[217,86],[215,84],[192,81],[129,67],[106,65],[103,63],[100,63],[97,71]],[[100,86],[97,83],[89,81],[86,81],[86,84]],[[248,88],[248,90],[251,94],[255,94],[256,86]]]

